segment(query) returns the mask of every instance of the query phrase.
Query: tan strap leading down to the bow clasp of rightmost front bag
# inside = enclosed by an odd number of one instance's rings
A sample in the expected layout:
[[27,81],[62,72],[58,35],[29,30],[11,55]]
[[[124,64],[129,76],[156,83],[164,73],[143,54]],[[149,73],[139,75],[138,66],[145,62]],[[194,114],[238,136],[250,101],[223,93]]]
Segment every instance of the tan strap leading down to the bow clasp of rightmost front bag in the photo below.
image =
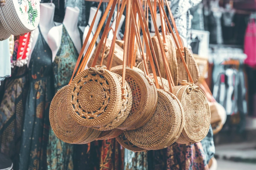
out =
[[[169,7],[169,4],[168,4],[167,0],[165,0],[165,2],[166,2],[166,5],[167,5],[167,8],[168,8],[168,10],[169,10],[170,7]],[[164,7],[163,7],[162,3],[159,2],[159,4],[160,4],[160,7],[164,10]],[[170,12],[170,11],[169,11],[169,12]],[[172,30],[171,24],[170,24],[170,22],[169,22],[169,20],[168,20],[168,17],[167,17],[167,15],[166,15],[166,13],[164,12],[163,15],[164,15],[164,18],[165,18],[165,20],[166,20],[166,22],[167,22],[167,24],[168,24],[168,27],[169,27],[169,29],[170,29],[170,31],[171,31],[171,34],[172,34],[173,39],[174,39],[174,42],[175,42],[176,46],[179,47],[178,42],[177,42],[177,39],[176,39],[176,37],[175,37],[175,35],[174,35],[174,32],[173,32],[173,30]],[[178,36],[178,37],[179,37],[179,36]],[[179,52],[180,58],[181,58],[181,60],[182,60],[182,63],[183,63],[183,65],[184,65],[185,69],[186,69],[186,72],[187,72],[187,74],[188,74],[188,78],[189,78],[190,82],[194,83],[194,81],[193,81],[193,79],[192,79],[192,76],[191,76],[191,74],[190,74],[190,72],[189,72],[189,70],[188,70],[188,66],[187,66],[187,64],[186,64],[186,62],[185,62],[185,60],[184,60],[184,58],[183,58],[183,55],[182,55],[182,52],[181,52],[180,48],[178,48],[178,52]]]

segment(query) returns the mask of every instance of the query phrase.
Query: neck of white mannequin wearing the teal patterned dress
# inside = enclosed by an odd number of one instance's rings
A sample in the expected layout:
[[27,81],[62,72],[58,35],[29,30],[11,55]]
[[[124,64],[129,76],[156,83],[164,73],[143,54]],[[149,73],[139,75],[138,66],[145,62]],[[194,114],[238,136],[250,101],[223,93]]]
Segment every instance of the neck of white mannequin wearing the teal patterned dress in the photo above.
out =
[[77,7],[66,7],[66,13],[63,20],[63,25],[69,30],[77,29],[79,9]]

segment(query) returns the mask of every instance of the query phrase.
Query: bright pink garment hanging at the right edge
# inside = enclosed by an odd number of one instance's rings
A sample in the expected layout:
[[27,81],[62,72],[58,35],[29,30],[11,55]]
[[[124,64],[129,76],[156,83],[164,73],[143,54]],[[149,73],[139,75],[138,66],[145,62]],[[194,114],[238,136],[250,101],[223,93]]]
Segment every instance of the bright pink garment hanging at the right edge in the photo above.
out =
[[246,29],[244,52],[247,55],[245,64],[250,67],[256,66],[256,25],[255,21],[251,20]]

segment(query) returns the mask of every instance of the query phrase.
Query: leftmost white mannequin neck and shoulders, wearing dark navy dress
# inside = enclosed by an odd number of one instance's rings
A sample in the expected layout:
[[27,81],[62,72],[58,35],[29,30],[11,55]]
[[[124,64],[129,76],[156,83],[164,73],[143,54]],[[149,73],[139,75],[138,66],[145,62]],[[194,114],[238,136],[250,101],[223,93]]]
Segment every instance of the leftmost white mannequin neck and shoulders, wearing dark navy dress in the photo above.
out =
[[[40,31],[43,35],[44,40],[48,43],[47,40],[47,35],[48,32],[50,31],[50,29],[52,27],[55,26],[54,21],[53,21],[53,17],[54,17],[54,11],[55,11],[55,5],[53,3],[41,3],[40,4],[40,21],[39,21],[39,27],[40,27]],[[27,66],[29,64],[29,61],[31,59],[31,54],[35,48],[37,39],[38,39],[38,35],[39,35],[39,28],[37,27],[34,31],[33,31],[33,38],[32,38],[32,43],[31,43],[31,50],[30,53],[28,55],[28,61],[27,61]]]

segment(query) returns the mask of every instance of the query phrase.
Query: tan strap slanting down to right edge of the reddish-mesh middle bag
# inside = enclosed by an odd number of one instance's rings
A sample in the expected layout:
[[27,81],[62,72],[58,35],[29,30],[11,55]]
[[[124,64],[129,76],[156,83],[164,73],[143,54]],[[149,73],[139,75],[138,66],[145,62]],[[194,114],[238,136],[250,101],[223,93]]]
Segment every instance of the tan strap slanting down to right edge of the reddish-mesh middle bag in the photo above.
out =
[[[155,54],[155,50],[153,48],[152,40],[150,38],[149,29],[148,29],[147,26],[145,26],[145,25],[147,25],[146,17],[145,17],[144,11],[143,11],[143,7],[142,7],[141,1],[140,0],[135,0],[135,4],[136,4],[137,10],[138,10],[138,16],[139,16],[139,20],[140,20],[141,27],[142,27],[142,33],[143,33],[143,36],[145,38],[146,51],[147,51],[148,58],[149,58],[149,61],[150,61],[150,65],[151,65],[151,68],[152,68],[152,71],[153,71],[153,75],[154,75],[154,79],[155,79],[155,84],[156,84],[156,87],[159,89],[156,69],[155,69],[155,65],[154,65],[154,62],[153,62],[153,57],[152,57],[152,54],[151,54],[151,50],[152,50],[152,53],[153,53],[153,56],[154,56],[155,59],[156,59],[156,54]],[[149,40],[149,43],[148,43],[147,39]],[[149,44],[150,44],[151,50],[150,50]],[[160,73],[160,69],[159,69],[158,64],[156,64],[156,66],[157,66],[158,72]]]

